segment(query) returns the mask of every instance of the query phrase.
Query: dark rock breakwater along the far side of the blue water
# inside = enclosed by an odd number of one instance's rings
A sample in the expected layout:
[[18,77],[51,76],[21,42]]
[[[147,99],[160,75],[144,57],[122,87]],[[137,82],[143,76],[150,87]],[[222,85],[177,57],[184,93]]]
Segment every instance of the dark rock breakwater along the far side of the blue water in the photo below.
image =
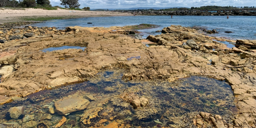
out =
[[[215,12],[216,11],[216,12]],[[126,12],[135,15],[202,15],[202,16],[256,16],[255,9],[230,9],[230,10],[178,10],[178,11],[114,11]]]

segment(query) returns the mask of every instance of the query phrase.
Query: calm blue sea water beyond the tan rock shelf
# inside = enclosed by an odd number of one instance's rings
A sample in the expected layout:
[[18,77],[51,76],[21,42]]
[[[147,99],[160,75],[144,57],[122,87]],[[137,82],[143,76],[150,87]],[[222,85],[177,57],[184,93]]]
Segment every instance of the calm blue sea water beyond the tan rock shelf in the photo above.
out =
[[[92,24],[87,24],[91,22]],[[87,17],[79,19],[58,19],[36,23],[33,26],[43,27],[59,27],[64,29],[68,26],[83,26],[83,27],[110,27],[110,26],[128,26],[141,23],[150,23],[159,25],[159,28],[141,30],[143,38],[149,34],[155,33],[156,30],[161,30],[164,27],[171,25],[181,26],[201,26],[208,30],[215,29],[219,33],[211,36],[226,37],[232,39],[253,39],[256,40],[256,17],[255,16],[124,16],[124,17]],[[233,33],[225,33],[231,31]]]

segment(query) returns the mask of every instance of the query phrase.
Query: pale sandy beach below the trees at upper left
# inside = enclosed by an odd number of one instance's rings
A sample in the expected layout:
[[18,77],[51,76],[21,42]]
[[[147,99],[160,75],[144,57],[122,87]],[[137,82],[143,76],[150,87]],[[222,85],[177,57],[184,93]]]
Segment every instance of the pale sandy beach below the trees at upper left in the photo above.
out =
[[[4,8],[2,8],[4,9]],[[0,9],[0,23],[25,21],[22,17],[104,17],[104,16],[132,16],[130,13],[103,12],[103,11],[79,11],[79,10],[44,10],[44,9]]]

